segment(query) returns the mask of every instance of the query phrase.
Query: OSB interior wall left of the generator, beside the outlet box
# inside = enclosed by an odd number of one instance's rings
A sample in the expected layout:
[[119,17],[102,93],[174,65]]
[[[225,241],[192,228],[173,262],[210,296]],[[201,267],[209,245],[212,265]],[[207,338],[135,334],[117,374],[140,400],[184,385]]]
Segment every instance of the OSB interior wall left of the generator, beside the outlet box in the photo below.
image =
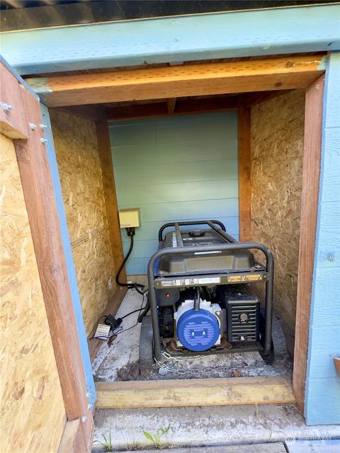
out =
[[[115,267],[95,123],[51,112],[52,132],[86,333],[115,291]],[[112,288],[108,288],[108,280]]]

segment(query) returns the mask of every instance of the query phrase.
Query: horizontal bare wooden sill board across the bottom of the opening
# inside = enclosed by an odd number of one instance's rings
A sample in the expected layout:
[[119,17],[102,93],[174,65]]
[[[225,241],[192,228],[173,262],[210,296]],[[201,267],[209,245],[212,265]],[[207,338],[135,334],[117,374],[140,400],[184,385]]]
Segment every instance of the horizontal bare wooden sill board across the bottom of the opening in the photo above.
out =
[[294,403],[283,377],[97,382],[98,409]]

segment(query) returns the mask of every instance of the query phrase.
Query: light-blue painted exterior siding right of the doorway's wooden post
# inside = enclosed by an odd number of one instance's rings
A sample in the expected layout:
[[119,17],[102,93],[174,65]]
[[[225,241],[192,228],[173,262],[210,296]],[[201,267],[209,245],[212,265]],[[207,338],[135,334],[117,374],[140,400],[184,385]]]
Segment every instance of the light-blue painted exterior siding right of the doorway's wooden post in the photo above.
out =
[[322,163],[315,246],[305,417],[307,424],[340,423],[340,53],[327,67]]

